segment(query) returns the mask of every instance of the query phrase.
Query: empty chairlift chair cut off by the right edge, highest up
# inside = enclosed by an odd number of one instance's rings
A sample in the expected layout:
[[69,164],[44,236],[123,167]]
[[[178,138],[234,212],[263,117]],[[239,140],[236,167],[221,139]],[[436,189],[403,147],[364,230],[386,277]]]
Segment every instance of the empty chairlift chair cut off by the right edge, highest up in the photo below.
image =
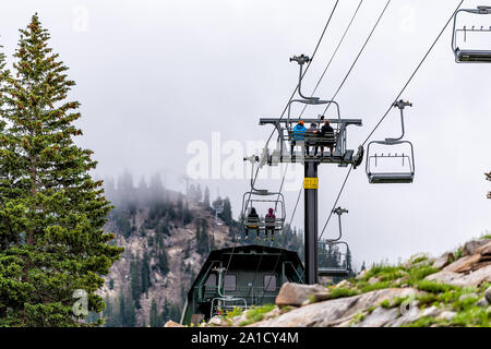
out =
[[[477,9],[462,9],[457,11],[454,16],[454,31],[452,36],[452,50],[455,55],[455,61],[457,63],[491,63],[491,24],[484,25],[472,25],[470,27],[464,26],[463,28],[457,28],[457,17],[458,14],[467,12],[471,14],[491,14],[491,7],[478,7]],[[482,34],[490,38],[488,40],[487,49],[463,49],[458,47],[457,39],[459,34],[464,34],[464,41],[467,39],[468,34]]]

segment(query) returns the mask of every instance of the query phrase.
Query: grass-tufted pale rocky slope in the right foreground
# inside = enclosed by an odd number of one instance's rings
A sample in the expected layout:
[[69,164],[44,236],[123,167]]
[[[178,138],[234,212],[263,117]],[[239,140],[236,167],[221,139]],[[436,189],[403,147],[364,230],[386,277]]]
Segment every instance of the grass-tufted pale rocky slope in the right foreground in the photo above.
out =
[[[375,265],[335,286],[285,284],[276,304],[236,311],[202,326],[490,326],[491,239],[439,258]],[[167,324],[171,326],[176,324]]]

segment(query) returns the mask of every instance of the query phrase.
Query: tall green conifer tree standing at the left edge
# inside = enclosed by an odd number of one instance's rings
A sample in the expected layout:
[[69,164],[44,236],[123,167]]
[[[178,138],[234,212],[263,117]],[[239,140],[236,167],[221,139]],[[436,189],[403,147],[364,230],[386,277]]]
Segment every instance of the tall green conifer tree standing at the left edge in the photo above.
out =
[[48,39],[35,14],[2,88],[0,326],[84,325],[74,290],[88,293],[89,311],[103,311],[95,291],[122,252],[103,231],[111,206],[91,178],[93,152],[73,142],[82,134],[73,125],[80,104],[67,101],[75,83]]

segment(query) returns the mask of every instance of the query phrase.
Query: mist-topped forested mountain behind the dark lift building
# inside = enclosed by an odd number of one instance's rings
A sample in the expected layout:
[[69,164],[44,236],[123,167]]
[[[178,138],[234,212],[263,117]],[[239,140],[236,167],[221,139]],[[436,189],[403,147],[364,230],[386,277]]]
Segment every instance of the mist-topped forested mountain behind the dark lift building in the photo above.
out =
[[[105,299],[106,326],[163,326],[179,321],[187,293],[211,250],[232,246],[240,224],[232,218],[230,201],[209,198],[209,191],[190,184],[188,194],[164,188],[155,174],[146,184],[133,184],[125,171],[115,182],[106,180],[115,206],[105,230],[116,233],[124,248],[105,277],[99,294]],[[212,207],[223,206],[216,231]],[[285,231],[290,231],[286,228]],[[288,233],[287,232],[287,233]],[[279,233],[274,244],[303,255],[301,232]]]

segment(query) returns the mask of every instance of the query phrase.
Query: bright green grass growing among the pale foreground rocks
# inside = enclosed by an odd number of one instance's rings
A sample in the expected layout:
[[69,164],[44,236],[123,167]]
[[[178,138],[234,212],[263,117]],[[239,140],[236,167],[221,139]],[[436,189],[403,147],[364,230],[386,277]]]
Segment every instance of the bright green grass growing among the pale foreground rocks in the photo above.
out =
[[[481,239],[490,239],[487,234]],[[455,260],[463,255],[463,248],[454,252]],[[424,263],[428,261],[428,263]],[[351,324],[359,323],[371,314],[378,306],[384,309],[394,309],[400,306],[409,299],[418,301],[420,310],[430,306],[436,306],[441,311],[452,311],[456,316],[452,320],[440,320],[431,316],[419,318],[417,322],[408,324],[408,327],[428,327],[428,326],[490,326],[491,312],[488,308],[477,306],[477,302],[483,297],[484,291],[491,287],[491,282],[486,282],[480,287],[457,287],[438,281],[427,280],[429,275],[440,272],[432,267],[427,255],[415,255],[408,262],[398,265],[375,264],[359,278],[348,279],[349,284],[345,287],[327,287],[330,299],[338,299],[358,296],[380,289],[412,287],[421,292],[415,296],[398,297],[385,300],[378,305],[372,305],[368,310],[356,314]],[[375,281],[373,281],[375,280]],[[463,294],[476,293],[476,297],[462,299]],[[314,298],[309,299],[311,302]]]

